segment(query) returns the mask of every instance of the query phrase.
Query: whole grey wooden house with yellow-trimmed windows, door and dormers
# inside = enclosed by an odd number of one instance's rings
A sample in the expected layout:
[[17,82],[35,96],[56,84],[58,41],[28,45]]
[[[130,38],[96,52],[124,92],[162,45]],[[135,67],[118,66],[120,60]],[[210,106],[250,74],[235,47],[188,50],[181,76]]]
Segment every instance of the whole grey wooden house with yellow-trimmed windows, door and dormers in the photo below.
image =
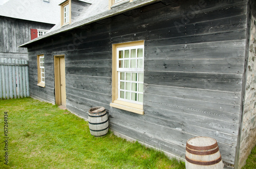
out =
[[59,5],[61,22],[21,45],[32,97],[86,119],[103,106],[115,134],[181,159],[187,139],[209,136],[226,166],[244,165],[256,143],[254,1]]

